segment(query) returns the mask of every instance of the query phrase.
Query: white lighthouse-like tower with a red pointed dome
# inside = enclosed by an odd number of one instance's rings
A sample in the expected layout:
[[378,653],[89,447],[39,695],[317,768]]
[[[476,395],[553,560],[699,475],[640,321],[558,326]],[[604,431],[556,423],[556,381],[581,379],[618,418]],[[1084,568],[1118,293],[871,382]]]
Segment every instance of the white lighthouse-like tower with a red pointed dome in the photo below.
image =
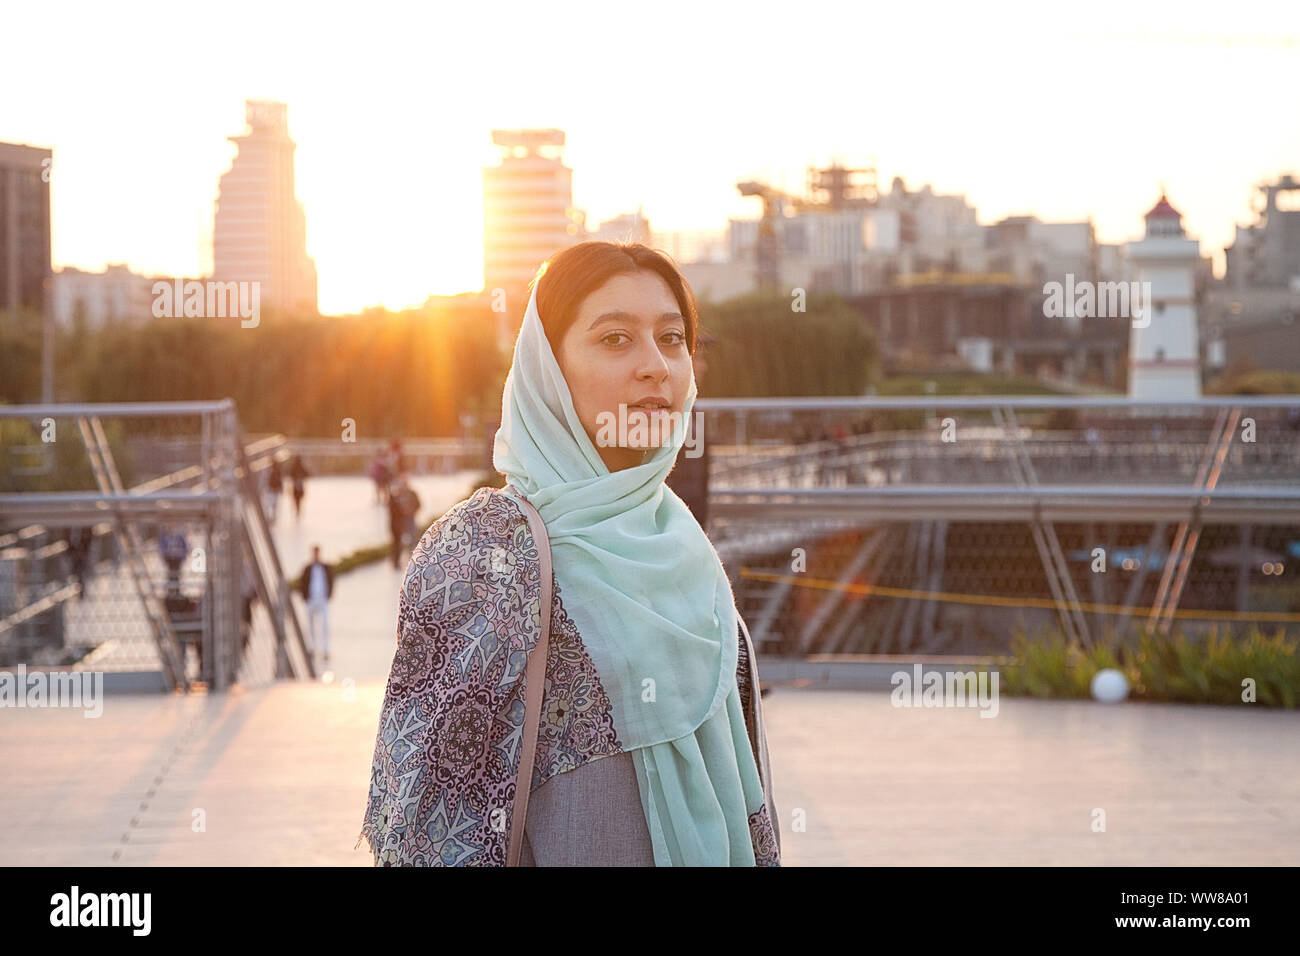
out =
[[1196,332],[1196,263],[1200,243],[1165,196],[1147,213],[1147,237],[1128,243],[1145,313],[1128,336],[1128,397],[1145,402],[1201,397]]

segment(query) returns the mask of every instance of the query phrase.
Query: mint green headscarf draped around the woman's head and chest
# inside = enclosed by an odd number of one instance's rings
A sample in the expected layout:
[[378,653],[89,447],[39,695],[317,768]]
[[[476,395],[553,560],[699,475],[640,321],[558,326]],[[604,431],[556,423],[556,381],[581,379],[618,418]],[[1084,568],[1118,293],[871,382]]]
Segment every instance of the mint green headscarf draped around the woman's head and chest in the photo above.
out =
[[[696,403],[692,377],[682,424]],[[611,410],[616,411],[616,410]],[[718,551],[664,484],[685,428],[610,472],[537,312],[515,341],[493,464],[538,510],[564,607],[637,769],[655,864],[753,866],[763,805],[736,687],[737,611]]]

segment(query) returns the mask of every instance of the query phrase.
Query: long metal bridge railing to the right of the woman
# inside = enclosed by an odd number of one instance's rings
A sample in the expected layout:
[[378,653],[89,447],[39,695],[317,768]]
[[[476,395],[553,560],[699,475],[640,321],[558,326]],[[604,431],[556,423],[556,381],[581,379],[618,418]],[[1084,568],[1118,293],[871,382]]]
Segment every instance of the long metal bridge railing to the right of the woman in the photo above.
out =
[[1300,397],[697,410],[710,536],[783,653],[987,653],[1017,622],[1083,644],[1300,623]]

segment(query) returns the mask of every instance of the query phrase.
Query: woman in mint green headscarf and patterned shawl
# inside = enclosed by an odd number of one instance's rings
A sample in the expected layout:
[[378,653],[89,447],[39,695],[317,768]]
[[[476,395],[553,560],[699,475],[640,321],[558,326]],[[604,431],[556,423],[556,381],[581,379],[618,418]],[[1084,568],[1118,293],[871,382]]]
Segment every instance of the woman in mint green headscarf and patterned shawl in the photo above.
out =
[[[533,280],[493,454],[554,564],[523,865],[780,865],[748,635],[664,484],[697,323],[641,245],[584,242]],[[416,546],[361,830],[377,864],[506,862],[540,574],[521,505],[490,488]]]

